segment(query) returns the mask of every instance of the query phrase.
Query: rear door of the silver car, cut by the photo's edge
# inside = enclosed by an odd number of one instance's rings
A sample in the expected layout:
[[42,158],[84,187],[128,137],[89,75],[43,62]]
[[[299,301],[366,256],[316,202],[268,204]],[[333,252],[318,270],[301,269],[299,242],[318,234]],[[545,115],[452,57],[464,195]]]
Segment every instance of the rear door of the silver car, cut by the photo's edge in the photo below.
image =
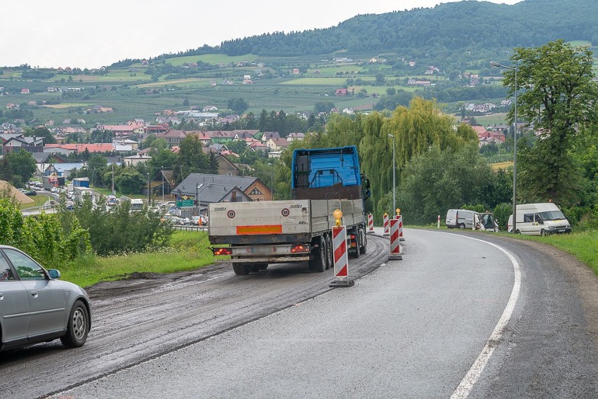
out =
[[27,339],[29,294],[0,250],[0,326],[2,341]]

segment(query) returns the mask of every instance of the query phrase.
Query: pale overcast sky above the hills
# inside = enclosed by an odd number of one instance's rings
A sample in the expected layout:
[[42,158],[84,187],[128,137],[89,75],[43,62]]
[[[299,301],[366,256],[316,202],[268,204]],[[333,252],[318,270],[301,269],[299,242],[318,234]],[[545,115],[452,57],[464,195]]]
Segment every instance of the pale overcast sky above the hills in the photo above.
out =
[[[452,0],[29,0],[0,6],[0,67],[98,68],[268,32],[333,27],[359,14]],[[521,0],[489,0],[515,4]]]

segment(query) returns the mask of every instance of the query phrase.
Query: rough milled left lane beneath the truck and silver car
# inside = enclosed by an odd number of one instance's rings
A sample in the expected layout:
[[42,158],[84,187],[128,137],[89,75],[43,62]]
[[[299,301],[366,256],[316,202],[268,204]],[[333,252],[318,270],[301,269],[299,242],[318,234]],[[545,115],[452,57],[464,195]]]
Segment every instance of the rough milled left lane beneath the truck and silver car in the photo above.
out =
[[[369,238],[368,253],[352,259],[351,276],[387,258],[387,238]],[[65,350],[57,340],[1,353],[0,398],[37,398],[97,379],[322,294],[332,279],[331,270],[310,273],[307,263],[243,277],[225,263],[96,284],[87,289],[93,321],[86,344]]]

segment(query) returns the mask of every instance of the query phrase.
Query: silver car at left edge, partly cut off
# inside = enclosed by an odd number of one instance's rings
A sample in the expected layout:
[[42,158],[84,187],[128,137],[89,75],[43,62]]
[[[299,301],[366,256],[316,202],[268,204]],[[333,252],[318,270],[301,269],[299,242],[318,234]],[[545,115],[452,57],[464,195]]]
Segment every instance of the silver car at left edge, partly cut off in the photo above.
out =
[[0,350],[60,338],[67,348],[85,344],[91,328],[87,293],[58,280],[24,252],[0,245]]

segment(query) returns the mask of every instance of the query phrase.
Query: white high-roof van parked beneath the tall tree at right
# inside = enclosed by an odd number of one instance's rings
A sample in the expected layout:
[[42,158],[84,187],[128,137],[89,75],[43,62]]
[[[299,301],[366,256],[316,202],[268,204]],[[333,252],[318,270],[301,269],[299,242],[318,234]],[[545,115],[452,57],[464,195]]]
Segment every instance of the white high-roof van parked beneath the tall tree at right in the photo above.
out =
[[[517,234],[571,233],[571,223],[561,209],[552,202],[517,205],[516,221]],[[507,227],[510,232],[513,231],[513,215],[509,216]]]

